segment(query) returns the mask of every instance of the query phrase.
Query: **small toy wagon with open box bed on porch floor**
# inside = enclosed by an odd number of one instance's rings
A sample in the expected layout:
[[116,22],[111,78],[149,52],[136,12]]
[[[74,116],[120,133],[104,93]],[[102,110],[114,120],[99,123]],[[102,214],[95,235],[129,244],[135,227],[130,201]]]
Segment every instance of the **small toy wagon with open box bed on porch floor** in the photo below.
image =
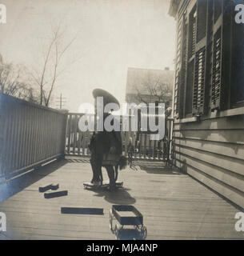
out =
[[[116,219],[118,223],[113,226],[113,221]],[[124,226],[134,226],[138,231],[142,240],[146,239],[146,226],[143,225],[143,216],[134,206],[113,205],[110,210],[110,230],[118,238],[119,232]]]

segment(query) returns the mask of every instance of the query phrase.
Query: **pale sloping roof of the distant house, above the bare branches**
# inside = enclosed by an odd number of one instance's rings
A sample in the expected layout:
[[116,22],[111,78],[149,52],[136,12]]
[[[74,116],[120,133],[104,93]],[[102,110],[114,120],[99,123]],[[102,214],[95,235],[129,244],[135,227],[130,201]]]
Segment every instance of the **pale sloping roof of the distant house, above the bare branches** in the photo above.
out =
[[150,94],[149,90],[146,90],[146,83],[156,82],[158,79],[162,83],[169,84],[173,90],[174,70],[148,70],[129,67],[127,71],[126,95],[138,94],[138,90],[140,90],[140,94]]

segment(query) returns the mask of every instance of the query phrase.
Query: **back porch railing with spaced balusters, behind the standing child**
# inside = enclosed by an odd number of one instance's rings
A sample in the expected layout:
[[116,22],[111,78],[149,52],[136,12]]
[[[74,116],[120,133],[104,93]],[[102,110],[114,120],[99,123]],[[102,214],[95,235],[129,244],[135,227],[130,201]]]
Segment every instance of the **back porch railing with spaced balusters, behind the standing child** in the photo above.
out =
[[[89,156],[88,145],[92,132],[81,132],[78,128],[81,113],[69,113],[66,128],[66,154]],[[170,158],[170,131],[173,119],[166,119],[166,135],[161,141],[151,141],[150,134],[142,132],[122,132],[124,154],[134,159],[168,160]]]

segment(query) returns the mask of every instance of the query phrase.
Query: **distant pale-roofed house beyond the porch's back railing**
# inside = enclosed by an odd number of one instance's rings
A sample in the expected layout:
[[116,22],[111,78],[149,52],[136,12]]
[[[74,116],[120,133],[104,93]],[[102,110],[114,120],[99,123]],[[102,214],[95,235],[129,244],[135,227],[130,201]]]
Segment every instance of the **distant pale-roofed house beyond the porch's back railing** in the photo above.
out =
[[167,103],[171,106],[174,71],[128,68],[126,102]]

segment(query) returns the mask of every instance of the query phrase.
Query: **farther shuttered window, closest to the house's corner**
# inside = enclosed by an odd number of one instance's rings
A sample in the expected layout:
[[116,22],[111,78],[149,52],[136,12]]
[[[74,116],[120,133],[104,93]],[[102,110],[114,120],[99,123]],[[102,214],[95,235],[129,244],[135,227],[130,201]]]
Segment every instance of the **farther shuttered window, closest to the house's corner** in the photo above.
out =
[[[183,26],[182,69],[178,103],[179,117],[202,114],[205,107],[206,84],[206,0],[198,0],[188,10]],[[187,17],[187,14],[186,14]],[[184,24],[184,23],[183,23]],[[185,38],[184,38],[185,37]]]

